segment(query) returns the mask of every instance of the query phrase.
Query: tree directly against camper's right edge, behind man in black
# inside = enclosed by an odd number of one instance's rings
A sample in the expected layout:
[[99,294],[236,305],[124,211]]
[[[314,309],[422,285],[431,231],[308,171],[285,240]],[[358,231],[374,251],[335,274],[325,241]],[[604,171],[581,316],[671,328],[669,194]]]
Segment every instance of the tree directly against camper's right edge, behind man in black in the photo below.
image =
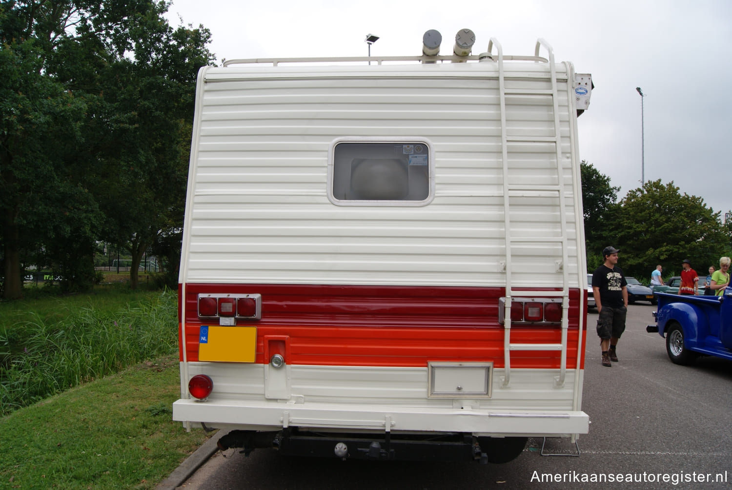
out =
[[[582,207],[585,223],[585,246],[590,270],[597,266],[597,250],[613,240],[608,239],[608,220],[615,215],[619,187],[610,185],[610,177],[603,175],[591,163],[580,163],[582,179]],[[603,245],[604,244],[604,245]]]

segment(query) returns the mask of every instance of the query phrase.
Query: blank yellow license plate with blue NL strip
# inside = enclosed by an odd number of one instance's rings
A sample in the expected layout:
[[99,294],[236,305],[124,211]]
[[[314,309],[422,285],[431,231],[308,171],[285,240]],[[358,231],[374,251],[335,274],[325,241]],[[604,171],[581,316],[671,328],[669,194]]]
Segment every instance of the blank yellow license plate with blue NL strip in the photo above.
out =
[[218,363],[253,363],[257,354],[257,327],[201,325],[198,360]]

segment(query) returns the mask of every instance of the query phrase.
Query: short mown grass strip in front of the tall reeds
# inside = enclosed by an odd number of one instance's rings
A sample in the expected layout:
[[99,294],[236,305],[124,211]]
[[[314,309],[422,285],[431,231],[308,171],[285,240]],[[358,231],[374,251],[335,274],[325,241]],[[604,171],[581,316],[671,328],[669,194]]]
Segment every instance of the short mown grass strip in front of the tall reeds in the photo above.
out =
[[171,420],[179,395],[159,357],[0,418],[0,488],[154,488],[206,440]]

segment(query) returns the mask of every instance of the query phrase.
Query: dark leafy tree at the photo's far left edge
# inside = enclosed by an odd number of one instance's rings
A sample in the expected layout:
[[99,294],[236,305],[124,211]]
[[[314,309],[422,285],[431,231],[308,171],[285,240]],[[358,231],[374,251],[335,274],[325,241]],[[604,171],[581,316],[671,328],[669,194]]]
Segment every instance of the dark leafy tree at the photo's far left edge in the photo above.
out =
[[[7,2],[4,2],[7,3]],[[0,7],[0,8],[4,8]],[[17,21],[17,19],[12,19]],[[64,220],[59,193],[75,185],[65,163],[81,141],[79,121],[86,103],[42,73],[39,42],[8,38],[12,24],[0,15],[0,232],[3,237],[4,297],[20,297],[21,250],[39,248],[37,230]],[[16,33],[20,34],[20,33]],[[83,212],[83,210],[81,211]]]

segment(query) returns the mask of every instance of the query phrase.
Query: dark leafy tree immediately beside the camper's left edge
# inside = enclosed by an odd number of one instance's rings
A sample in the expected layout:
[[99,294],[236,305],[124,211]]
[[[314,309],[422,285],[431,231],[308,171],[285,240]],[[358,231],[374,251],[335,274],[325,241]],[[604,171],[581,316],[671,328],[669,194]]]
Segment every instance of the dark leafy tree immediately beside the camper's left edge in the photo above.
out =
[[143,253],[182,228],[195,77],[213,55],[206,49],[210,33],[200,26],[173,31],[151,16],[131,35],[135,61],[120,59],[105,79],[105,111],[123,122],[110,134],[124,144],[107,157],[116,173],[107,186],[112,198],[102,206],[110,240],[132,254],[134,289]]

